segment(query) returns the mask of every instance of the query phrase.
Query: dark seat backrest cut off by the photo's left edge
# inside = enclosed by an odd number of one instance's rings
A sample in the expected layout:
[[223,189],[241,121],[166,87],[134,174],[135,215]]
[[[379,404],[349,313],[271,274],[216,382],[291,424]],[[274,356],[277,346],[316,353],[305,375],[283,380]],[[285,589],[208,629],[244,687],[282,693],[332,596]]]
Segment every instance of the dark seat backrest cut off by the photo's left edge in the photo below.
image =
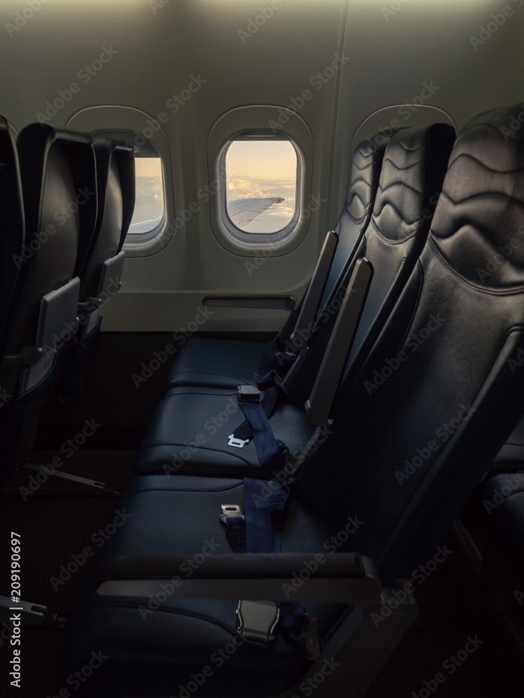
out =
[[19,269],[13,259],[22,254],[24,209],[15,142],[6,119],[0,117],[0,356],[6,343],[6,318]]

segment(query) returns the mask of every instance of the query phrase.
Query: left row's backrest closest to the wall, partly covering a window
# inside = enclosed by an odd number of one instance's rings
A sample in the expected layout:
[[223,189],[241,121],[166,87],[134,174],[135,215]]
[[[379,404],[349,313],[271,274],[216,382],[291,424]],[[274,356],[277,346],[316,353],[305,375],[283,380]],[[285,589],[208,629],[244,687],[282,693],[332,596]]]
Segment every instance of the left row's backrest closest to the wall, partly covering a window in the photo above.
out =
[[95,297],[103,263],[122,250],[135,208],[135,156],[132,144],[93,139],[99,208],[92,244],[80,270],[80,302]]

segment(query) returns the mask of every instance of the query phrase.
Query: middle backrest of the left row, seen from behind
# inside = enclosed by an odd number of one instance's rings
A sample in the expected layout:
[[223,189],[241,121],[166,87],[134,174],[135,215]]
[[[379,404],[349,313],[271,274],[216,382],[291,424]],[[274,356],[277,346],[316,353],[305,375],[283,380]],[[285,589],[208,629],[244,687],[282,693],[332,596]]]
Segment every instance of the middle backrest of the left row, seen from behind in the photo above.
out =
[[42,297],[78,275],[96,221],[96,171],[87,133],[31,124],[17,142],[26,235],[6,351],[34,346]]

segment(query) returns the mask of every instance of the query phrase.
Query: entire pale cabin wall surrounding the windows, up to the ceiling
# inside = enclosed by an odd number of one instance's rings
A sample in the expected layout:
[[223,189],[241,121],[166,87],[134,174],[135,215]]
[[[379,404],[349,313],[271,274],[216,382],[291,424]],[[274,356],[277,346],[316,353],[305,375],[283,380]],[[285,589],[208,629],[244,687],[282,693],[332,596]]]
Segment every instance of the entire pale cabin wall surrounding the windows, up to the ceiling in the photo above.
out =
[[[174,182],[166,195],[180,211],[208,183],[208,135],[222,114],[242,105],[285,107],[334,54],[350,57],[298,110],[314,139],[307,198],[326,200],[303,244],[268,258],[249,276],[245,257],[217,242],[203,205],[161,251],[126,260],[125,285],[105,307],[104,329],[175,330],[194,318],[210,292],[289,294],[298,302],[344,200],[351,141],[370,114],[390,105],[402,109],[424,82],[439,87],[427,103],[458,126],[482,110],[524,101],[524,7],[518,2],[282,0],[242,43],[238,31],[270,0],[168,0],[156,13],[147,0],[48,0],[12,37],[7,23],[27,1],[2,0],[0,113],[18,130],[35,121],[58,90],[80,82],[78,71],[104,46],[118,53],[80,85],[53,126],[96,105],[135,107],[154,118],[169,114],[168,98],[187,87],[191,75],[201,75],[207,82],[163,124],[170,147],[164,165]],[[470,36],[504,6],[514,8],[514,16],[475,51]],[[393,15],[384,13],[393,7]],[[402,113],[401,125],[414,123]],[[279,311],[216,310],[204,329],[276,329],[284,318]]]

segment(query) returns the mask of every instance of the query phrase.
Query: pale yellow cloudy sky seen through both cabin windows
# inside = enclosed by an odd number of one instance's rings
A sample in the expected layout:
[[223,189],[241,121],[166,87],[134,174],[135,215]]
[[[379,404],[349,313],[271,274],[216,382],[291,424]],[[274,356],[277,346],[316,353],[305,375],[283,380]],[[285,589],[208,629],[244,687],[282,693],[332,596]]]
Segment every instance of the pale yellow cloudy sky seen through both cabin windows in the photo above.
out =
[[[277,232],[286,227],[295,211],[296,172],[296,151],[288,141],[250,139],[231,144],[226,154],[226,201],[284,198],[250,223],[245,232]],[[136,205],[131,225],[136,225],[135,232],[141,232],[141,223],[158,221],[162,214],[160,158],[136,158]]]

